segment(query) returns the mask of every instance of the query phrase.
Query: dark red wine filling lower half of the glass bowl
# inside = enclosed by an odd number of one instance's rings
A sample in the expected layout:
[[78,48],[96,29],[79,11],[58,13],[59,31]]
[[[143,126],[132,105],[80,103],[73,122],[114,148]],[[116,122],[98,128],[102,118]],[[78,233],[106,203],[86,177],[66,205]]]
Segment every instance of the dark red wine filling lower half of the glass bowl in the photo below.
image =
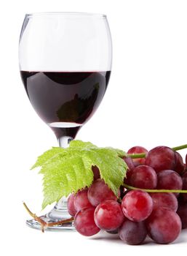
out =
[[21,71],[20,74],[36,113],[60,137],[58,128],[63,128],[63,132],[66,129],[67,134],[74,131],[76,135],[81,124],[95,113],[111,72]]

